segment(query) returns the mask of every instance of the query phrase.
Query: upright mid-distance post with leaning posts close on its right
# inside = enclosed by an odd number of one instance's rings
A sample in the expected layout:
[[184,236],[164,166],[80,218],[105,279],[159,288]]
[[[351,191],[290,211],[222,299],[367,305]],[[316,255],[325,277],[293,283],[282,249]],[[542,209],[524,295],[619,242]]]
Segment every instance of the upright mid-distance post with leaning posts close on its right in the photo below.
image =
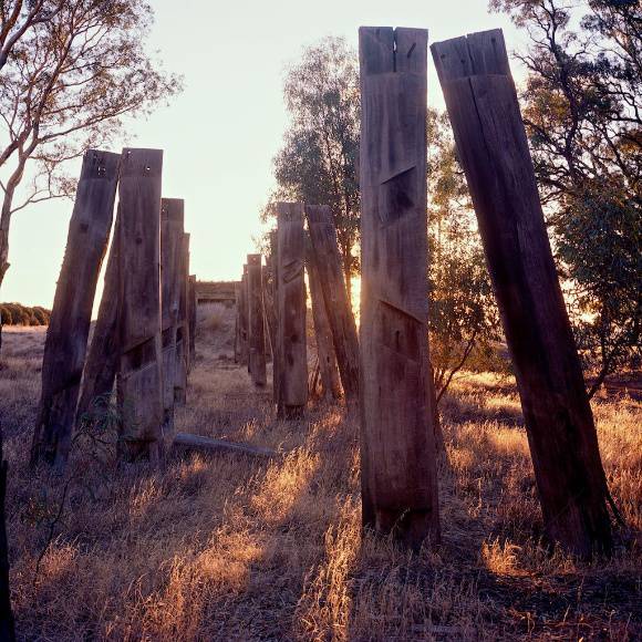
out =
[[280,417],[298,418],[308,402],[303,204],[278,203],[277,215],[277,408]]

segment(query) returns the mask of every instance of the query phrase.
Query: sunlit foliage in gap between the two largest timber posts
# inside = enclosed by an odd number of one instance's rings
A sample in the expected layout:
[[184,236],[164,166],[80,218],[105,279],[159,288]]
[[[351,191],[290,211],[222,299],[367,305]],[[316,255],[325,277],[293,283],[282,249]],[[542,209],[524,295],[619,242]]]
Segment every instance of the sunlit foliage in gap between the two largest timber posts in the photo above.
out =
[[428,112],[431,360],[437,398],[473,355],[494,354],[498,314],[445,114]]

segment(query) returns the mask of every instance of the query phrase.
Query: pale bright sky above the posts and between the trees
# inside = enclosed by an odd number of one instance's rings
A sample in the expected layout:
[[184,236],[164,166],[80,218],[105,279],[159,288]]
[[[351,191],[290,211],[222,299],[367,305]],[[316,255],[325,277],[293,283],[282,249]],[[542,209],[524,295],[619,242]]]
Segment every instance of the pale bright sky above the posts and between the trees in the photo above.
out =
[[[426,28],[429,42],[499,27],[509,50],[524,42],[504,14],[488,12],[487,0],[151,2],[151,50],[185,76],[185,91],[148,120],[128,122],[123,144],[165,151],[163,194],[185,199],[190,271],[204,280],[237,279],[255,249],[287,125],[284,68],[306,45],[325,35],[356,45],[360,25]],[[428,61],[428,102],[442,107]],[[51,307],[71,211],[72,203],[61,200],[14,216],[1,301]]]

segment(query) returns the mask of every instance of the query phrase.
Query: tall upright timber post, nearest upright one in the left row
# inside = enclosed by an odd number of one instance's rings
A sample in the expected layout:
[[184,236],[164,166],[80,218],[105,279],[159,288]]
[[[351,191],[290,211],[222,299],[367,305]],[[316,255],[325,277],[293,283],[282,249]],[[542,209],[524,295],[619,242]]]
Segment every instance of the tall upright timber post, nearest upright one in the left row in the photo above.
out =
[[121,205],[121,360],[118,407],[121,454],[164,454],[163,350],[161,329],[161,149],[124,149]]

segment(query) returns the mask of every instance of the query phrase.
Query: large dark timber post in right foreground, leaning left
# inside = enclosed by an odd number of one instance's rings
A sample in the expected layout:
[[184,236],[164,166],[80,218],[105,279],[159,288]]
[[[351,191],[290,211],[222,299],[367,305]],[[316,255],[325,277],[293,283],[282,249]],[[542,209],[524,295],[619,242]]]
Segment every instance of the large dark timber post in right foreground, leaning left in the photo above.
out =
[[548,536],[611,548],[607,480],[500,30],[432,48],[517,385]]

